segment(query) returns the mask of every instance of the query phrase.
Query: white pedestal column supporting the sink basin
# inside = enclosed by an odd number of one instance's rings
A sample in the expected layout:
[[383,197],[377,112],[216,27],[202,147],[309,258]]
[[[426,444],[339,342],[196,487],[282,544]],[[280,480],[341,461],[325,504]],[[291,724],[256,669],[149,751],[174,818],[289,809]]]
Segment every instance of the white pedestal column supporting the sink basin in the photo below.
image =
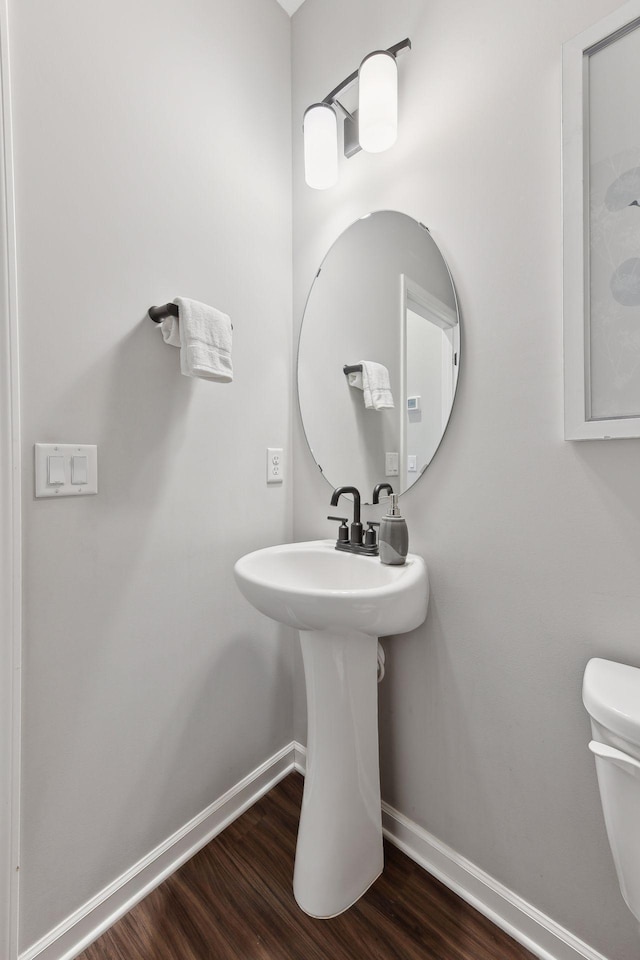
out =
[[312,917],[348,909],[382,873],[377,638],[300,631],[307,771],[293,892]]

